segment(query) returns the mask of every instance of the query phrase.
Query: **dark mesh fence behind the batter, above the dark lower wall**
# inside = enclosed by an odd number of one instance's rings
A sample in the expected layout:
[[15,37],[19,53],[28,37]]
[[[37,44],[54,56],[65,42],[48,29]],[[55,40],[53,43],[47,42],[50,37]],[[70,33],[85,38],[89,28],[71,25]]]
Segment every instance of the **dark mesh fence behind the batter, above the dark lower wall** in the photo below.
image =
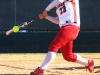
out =
[[[36,17],[50,3],[50,0],[0,0],[0,30],[8,30],[14,25]],[[81,29],[100,29],[100,0],[79,0]],[[50,11],[55,16],[55,9]],[[57,31],[58,25],[43,19],[25,27],[26,30]]]

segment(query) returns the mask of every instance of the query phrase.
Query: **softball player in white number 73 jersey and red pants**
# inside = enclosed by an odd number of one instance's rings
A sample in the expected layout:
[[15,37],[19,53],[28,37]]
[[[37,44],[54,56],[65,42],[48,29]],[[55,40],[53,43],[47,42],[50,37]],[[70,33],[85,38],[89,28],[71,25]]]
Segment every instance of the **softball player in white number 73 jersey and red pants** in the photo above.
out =
[[[56,17],[51,17],[48,12],[56,7]],[[73,53],[73,41],[77,38],[80,31],[80,16],[78,0],[53,0],[43,11],[39,14],[40,19],[47,19],[60,26],[60,31],[51,42],[48,53],[43,63],[31,72],[30,75],[45,74],[47,67],[55,59],[58,50],[61,50],[63,58],[66,61],[82,64],[93,72],[94,61],[86,60],[80,55]]]

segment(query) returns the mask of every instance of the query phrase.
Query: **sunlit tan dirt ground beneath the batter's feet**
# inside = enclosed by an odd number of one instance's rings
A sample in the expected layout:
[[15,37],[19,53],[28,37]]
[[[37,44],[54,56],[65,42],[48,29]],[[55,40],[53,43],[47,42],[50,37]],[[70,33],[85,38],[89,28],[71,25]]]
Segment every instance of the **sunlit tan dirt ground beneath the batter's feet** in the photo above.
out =
[[[100,53],[78,53],[86,59],[93,59],[95,70],[100,69]],[[0,54],[0,75],[29,74],[37,68],[43,61],[46,54]],[[56,59],[47,69],[47,75],[100,75],[90,74],[84,66],[67,62],[62,55],[57,54]]]

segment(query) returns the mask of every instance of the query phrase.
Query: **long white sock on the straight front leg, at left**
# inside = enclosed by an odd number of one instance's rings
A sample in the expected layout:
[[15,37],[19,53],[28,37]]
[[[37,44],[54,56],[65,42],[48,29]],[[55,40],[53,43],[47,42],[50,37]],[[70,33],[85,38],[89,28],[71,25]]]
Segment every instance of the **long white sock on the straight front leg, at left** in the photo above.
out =
[[48,52],[43,63],[41,64],[41,69],[47,69],[47,67],[50,65],[50,63],[56,58],[55,52]]

